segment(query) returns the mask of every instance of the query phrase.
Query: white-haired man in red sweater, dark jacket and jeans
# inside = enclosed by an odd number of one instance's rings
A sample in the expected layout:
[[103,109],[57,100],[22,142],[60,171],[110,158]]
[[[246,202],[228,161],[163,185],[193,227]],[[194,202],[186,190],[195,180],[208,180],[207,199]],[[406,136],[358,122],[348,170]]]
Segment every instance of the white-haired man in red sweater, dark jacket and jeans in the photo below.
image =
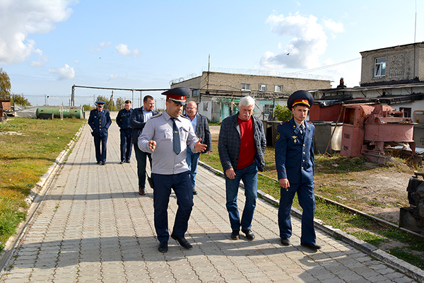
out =
[[[226,207],[230,216],[231,238],[240,238],[240,226],[247,240],[254,239],[252,219],[256,207],[258,170],[264,171],[266,138],[261,120],[254,117],[254,99],[240,99],[239,112],[227,117],[220,126],[218,153],[225,172]],[[246,204],[242,219],[237,207],[240,180],[245,184]]]

